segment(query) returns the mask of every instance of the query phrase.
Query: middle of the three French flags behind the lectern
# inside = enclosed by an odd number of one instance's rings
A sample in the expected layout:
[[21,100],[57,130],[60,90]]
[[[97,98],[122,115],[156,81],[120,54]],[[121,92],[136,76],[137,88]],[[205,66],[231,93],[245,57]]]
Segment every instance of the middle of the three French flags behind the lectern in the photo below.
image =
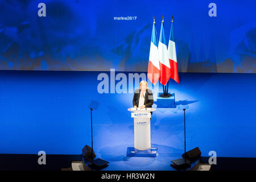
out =
[[168,59],[166,38],[164,36],[163,21],[162,21],[160,39],[158,44],[158,54],[159,54],[159,63],[160,63],[159,81],[161,84],[166,85],[168,80],[171,77],[171,67],[170,67],[170,61]]

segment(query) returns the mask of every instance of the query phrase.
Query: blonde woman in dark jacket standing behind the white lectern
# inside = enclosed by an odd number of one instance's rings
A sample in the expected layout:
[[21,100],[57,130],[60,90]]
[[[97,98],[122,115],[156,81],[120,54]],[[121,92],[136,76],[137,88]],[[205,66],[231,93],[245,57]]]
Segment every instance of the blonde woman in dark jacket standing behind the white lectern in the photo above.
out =
[[[136,89],[133,96],[133,106],[144,109],[145,107],[152,107],[154,98],[152,90],[147,88],[147,82],[142,80],[139,83],[139,89]],[[152,114],[152,112],[151,112]]]

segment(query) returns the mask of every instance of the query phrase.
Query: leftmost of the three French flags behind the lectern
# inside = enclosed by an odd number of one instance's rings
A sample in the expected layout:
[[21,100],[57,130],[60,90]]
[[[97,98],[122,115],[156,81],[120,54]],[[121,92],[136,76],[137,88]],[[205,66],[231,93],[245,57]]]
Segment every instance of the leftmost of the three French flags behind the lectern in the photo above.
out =
[[153,23],[151,44],[150,44],[150,57],[148,61],[147,77],[152,84],[156,84],[160,77],[160,65],[158,57],[158,40],[155,30],[155,22]]

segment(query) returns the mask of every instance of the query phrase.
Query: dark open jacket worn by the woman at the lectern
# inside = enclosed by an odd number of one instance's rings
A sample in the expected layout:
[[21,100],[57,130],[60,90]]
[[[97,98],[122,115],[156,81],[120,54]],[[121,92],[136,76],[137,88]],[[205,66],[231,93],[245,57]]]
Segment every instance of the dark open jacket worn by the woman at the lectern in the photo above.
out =
[[[137,106],[137,107],[139,106],[140,94],[141,94],[141,90],[136,89],[133,96],[133,106]],[[152,90],[146,89],[144,105],[146,107],[152,107],[153,104],[154,104],[154,98],[153,98]]]

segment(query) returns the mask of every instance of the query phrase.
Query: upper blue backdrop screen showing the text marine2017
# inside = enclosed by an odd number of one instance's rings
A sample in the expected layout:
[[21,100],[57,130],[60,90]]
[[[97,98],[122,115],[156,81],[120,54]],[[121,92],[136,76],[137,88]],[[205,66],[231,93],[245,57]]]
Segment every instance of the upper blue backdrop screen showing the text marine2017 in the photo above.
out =
[[256,2],[211,2],[0,1],[0,69],[147,71],[152,16],[169,38],[174,15],[180,72],[255,73]]

